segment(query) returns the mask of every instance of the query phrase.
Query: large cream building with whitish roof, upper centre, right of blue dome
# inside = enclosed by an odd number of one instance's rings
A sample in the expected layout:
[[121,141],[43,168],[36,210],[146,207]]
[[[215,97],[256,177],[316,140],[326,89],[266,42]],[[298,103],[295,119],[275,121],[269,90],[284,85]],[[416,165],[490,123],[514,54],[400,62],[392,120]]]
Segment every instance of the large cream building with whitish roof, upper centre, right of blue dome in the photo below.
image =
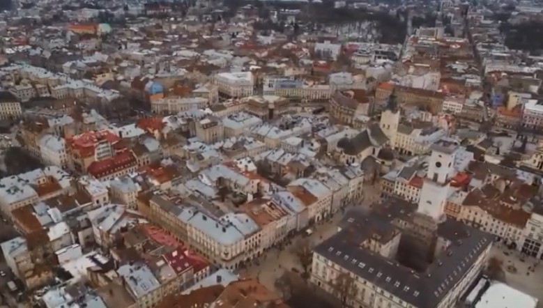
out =
[[213,84],[225,98],[244,98],[254,93],[252,72],[222,72],[213,77]]

